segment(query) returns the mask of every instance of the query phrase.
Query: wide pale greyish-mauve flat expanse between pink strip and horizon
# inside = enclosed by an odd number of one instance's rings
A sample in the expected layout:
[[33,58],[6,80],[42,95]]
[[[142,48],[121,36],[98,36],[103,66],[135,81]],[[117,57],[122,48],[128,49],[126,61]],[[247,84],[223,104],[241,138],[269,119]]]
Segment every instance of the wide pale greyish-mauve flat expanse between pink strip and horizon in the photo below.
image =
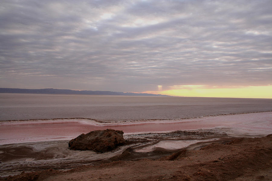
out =
[[167,120],[271,110],[272,99],[0,94],[0,120]]

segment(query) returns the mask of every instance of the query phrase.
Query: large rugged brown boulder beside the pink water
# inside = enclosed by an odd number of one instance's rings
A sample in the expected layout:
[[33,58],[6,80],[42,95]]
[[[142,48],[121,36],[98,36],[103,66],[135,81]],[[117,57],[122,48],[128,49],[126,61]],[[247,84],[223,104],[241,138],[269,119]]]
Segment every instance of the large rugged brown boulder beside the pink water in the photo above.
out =
[[103,153],[124,144],[123,134],[123,131],[113,129],[96,130],[79,135],[69,141],[68,145],[71,150],[92,150]]

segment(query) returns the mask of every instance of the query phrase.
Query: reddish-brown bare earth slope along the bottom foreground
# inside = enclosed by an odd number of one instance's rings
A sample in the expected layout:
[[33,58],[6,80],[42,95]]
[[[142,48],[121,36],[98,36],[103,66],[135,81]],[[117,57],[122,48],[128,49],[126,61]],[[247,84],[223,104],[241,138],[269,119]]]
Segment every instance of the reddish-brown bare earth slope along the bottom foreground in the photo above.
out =
[[158,160],[113,161],[69,171],[44,170],[0,180],[272,180],[272,135],[212,143],[200,150],[181,150]]

